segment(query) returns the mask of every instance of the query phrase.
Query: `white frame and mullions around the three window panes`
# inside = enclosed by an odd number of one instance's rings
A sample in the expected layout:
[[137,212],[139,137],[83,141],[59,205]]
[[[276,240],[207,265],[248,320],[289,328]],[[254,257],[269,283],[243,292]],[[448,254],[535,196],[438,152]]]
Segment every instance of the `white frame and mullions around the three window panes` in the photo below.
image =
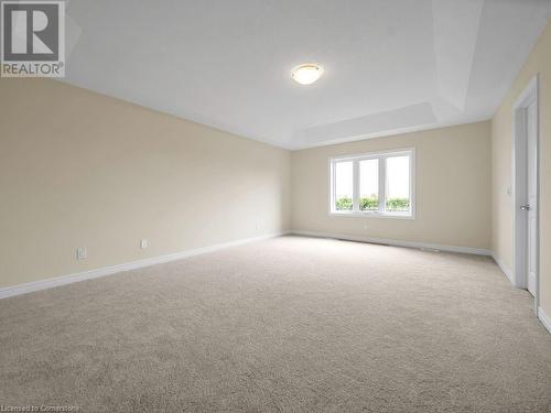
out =
[[[389,213],[385,210],[386,203],[386,161],[387,157],[410,157],[410,211]],[[359,162],[366,160],[379,160],[379,209],[376,211],[359,210]],[[337,162],[353,162],[353,210],[335,209],[335,174]],[[415,149],[400,149],[391,151],[369,152],[357,155],[343,155],[329,159],[329,215],[339,217],[364,217],[364,218],[398,218],[415,219]]]

